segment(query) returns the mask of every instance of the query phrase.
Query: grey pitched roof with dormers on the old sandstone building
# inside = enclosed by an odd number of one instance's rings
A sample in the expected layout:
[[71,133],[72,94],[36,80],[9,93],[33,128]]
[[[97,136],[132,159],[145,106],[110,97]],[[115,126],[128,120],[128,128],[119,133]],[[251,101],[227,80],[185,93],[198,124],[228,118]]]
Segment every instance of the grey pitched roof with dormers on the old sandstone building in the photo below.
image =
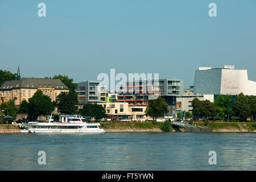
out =
[[20,80],[5,81],[0,89],[12,88],[54,88],[68,89],[60,79],[52,78],[21,78]]

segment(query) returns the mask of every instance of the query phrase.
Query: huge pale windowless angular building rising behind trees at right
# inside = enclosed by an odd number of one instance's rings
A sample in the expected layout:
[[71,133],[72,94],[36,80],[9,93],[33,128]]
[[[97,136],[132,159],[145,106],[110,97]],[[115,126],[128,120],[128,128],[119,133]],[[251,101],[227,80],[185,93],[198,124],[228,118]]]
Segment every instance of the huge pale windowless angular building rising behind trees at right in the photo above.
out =
[[247,70],[224,68],[199,69],[195,73],[194,94],[230,94],[256,96],[256,82],[248,80]]

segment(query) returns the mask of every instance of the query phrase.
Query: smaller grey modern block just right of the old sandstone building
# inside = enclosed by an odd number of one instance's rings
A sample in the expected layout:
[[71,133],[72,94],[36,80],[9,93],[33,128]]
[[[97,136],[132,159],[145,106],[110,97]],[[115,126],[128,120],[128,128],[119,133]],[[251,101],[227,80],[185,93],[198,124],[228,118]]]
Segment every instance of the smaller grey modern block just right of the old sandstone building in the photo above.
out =
[[76,92],[79,102],[105,102],[106,86],[101,81],[82,81],[78,83]]

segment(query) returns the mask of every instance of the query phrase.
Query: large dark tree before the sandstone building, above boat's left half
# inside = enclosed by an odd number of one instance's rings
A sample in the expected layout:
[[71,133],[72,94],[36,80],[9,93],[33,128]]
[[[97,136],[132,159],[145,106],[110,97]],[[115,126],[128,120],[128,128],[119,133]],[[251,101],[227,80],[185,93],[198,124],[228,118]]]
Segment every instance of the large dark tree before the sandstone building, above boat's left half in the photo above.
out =
[[48,115],[54,110],[51,98],[45,96],[42,90],[35,92],[28,99],[28,119],[35,121],[40,115]]

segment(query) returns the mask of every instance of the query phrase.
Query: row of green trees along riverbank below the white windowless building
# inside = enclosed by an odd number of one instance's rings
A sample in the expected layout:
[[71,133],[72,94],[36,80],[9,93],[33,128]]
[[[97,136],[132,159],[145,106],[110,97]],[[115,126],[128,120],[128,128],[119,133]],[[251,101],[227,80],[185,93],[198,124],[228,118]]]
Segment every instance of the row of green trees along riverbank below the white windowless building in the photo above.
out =
[[192,114],[194,117],[221,117],[223,120],[232,115],[239,117],[241,121],[256,115],[256,98],[254,96],[245,96],[238,94],[236,100],[232,103],[232,96],[218,96],[214,102],[209,100],[200,101],[198,98],[192,101]]

